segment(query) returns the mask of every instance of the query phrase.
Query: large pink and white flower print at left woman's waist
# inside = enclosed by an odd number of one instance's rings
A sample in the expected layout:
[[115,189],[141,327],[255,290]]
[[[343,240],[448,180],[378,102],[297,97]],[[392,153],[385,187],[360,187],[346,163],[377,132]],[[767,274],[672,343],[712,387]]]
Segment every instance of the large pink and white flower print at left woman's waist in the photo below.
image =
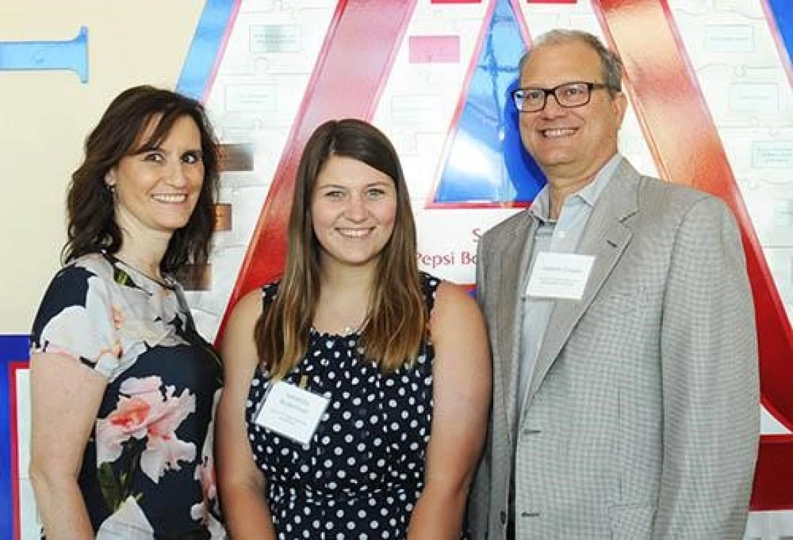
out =
[[155,483],[166,470],[179,470],[178,462],[193,461],[195,444],[179,440],[175,432],[195,412],[195,396],[189,390],[174,396],[174,386],[167,386],[163,395],[162,384],[155,375],[128,378],[121,383],[122,395],[116,410],[97,421],[99,463],[116,461],[123,444],[131,438],[146,438],[140,468]]

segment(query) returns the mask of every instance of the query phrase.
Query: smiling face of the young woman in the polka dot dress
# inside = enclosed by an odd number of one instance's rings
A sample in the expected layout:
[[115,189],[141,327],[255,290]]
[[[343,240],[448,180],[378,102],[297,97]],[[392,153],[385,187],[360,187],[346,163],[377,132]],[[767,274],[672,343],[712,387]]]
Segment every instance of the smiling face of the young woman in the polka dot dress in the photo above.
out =
[[374,268],[397,221],[394,181],[357,159],[331,155],[316,177],[311,219],[323,268]]

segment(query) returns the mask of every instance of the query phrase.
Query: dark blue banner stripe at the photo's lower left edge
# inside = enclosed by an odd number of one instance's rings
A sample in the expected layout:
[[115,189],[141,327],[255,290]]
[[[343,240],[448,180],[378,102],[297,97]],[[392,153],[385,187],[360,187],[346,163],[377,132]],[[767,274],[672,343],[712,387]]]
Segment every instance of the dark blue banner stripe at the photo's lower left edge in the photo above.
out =
[[[10,363],[28,359],[30,339],[28,336],[0,335],[0,433],[6,435],[0,443],[0,530],[14,530],[13,523],[19,518],[13,511],[13,486],[17,478],[12,478],[13,448],[16,444],[11,433],[11,378]],[[18,527],[18,523],[17,523]],[[10,538],[3,537],[3,538]]]

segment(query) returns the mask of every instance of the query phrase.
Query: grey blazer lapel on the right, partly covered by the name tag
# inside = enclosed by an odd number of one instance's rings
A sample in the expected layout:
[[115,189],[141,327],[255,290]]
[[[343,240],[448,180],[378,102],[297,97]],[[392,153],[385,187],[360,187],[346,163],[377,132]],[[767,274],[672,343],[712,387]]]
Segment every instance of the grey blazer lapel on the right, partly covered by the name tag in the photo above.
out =
[[638,208],[638,179],[638,173],[623,159],[592,210],[587,230],[577,250],[582,255],[595,257],[584,295],[578,302],[557,301],[551,311],[523,410],[531,404],[534,394],[565,346],[573,328],[611,275],[633,235],[623,221],[634,215]]

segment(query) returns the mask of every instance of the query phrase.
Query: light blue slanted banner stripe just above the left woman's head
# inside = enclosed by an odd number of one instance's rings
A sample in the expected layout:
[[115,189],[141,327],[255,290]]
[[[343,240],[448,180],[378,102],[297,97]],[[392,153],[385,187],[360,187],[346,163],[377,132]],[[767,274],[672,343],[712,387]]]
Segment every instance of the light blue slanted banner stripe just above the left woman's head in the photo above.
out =
[[193,36],[193,43],[187,51],[185,65],[176,85],[179,93],[197,100],[204,97],[207,82],[212,76],[228,22],[237,2],[239,0],[206,0]]

